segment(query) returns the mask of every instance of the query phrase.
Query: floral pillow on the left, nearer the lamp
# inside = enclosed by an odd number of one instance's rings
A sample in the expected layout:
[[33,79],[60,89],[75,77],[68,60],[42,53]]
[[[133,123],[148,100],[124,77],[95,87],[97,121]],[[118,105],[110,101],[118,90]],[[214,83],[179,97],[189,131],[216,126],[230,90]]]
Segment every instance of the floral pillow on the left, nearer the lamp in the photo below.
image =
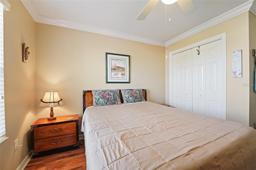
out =
[[107,106],[122,104],[119,97],[119,89],[116,90],[92,90],[93,106]]

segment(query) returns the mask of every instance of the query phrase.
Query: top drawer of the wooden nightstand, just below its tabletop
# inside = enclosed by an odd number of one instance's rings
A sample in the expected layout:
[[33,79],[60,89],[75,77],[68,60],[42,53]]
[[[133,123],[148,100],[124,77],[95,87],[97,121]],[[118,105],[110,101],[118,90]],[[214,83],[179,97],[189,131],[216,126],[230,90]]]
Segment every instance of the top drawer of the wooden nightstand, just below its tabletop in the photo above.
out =
[[76,133],[76,122],[34,128],[34,140]]

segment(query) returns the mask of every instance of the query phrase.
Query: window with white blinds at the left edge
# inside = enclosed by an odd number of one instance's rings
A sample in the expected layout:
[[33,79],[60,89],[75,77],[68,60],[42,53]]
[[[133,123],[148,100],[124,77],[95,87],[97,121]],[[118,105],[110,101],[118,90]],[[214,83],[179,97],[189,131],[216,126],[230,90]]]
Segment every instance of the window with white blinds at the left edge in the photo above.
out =
[[5,135],[4,115],[4,9],[10,10],[6,0],[0,0],[0,143],[8,137]]

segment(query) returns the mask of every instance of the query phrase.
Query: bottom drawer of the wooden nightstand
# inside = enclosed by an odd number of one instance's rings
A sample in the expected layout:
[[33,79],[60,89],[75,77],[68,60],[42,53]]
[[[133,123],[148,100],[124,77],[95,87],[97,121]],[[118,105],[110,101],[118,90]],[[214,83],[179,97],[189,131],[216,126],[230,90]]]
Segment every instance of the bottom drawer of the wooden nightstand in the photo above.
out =
[[76,133],[34,140],[34,152],[42,152],[75,144],[77,144]]

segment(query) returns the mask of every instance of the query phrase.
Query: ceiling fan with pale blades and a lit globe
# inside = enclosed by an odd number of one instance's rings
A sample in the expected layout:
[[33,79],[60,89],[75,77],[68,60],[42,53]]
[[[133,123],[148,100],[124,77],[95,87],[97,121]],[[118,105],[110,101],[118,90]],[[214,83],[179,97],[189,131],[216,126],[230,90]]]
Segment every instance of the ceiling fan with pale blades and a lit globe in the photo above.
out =
[[[144,20],[146,16],[150,13],[150,11],[154,8],[154,6],[160,0],[150,0],[145,8],[140,12],[139,16],[136,18],[137,20]],[[196,6],[192,2],[192,0],[161,0],[164,4],[173,4],[175,2],[178,3],[182,11],[186,14],[192,14],[196,10]]]

